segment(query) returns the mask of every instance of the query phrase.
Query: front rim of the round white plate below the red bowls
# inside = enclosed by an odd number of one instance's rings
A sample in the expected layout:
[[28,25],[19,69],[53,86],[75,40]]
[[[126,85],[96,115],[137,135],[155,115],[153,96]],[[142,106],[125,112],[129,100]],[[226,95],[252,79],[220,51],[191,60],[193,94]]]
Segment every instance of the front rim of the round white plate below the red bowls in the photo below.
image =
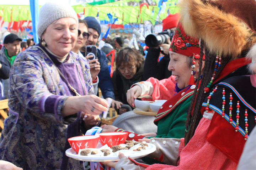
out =
[[[125,152],[123,152],[123,154],[126,157],[129,156],[132,159],[136,159],[136,158],[142,158],[152,152],[155,152],[155,150],[156,150],[155,145],[153,145],[151,143],[146,143],[146,144],[148,144],[148,147],[146,147],[146,150],[143,150],[143,149],[142,149],[142,151],[123,150],[123,151],[125,151]],[[127,152],[127,151],[129,151],[129,152]],[[88,162],[107,162],[107,161],[113,162],[113,161],[119,160],[119,157],[118,157],[119,152],[122,152],[122,150],[114,152],[113,154],[108,155],[108,156],[92,156],[92,155],[84,156],[84,155],[76,154],[76,152],[72,148],[69,148],[66,150],[66,156],[68,156],[70,158],[74,158],[76,160],[88,161]]]

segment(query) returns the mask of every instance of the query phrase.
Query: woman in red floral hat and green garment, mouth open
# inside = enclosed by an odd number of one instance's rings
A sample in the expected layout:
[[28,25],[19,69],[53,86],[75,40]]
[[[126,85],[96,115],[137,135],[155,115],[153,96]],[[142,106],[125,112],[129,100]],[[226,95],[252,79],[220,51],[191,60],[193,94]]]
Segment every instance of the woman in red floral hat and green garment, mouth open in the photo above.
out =
[[[142,100],[148,101],[167,100],[160,107],[154,120],[154,123],[158,126],[157,133],[138,135],[126,131],[129,134],[127,140],[138,141],[139,139],[145,140],[145,138],[148,138],[146,139],[147,142],[157,146],[156,152],[148,156],[153,159],[143,159],[147,163],[158,161],[165,164],[175,163],[176,158],[170,158],[169,150],[164,147],[163,142],[166,141],[166,138],[182,138],[185,135],[187,110],[191,103],[199,73],[199,57],[199,40],[186,35],[181,23],[178,23],[170,46],[168,66],[173,75],[160,81],[156,78],[149,78],[146,81],[135,83],[127,92],[127,100],[131,105],[134,98],[138,96],[142,97]],[[102,127],[104,127],[102,132],[125,131],[110,125]],[[178,143],[180,140],[176,141]]]

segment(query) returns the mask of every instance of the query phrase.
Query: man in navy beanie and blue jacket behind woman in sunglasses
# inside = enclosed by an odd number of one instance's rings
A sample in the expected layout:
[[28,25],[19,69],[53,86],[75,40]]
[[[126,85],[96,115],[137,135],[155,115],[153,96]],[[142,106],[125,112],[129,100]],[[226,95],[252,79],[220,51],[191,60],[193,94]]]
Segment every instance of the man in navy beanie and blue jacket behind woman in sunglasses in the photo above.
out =
[[[82,53],[82,55],[86,56],[86,46],[96,45],[98,38],[101,34],[101,26],[100,23],[94,17],[85,17],[84,20],[88,25],[89,37],[87,38],[85,45],[80,49],[80,52]],[[100,72],[98,73],[98,86],[100,87],[104,98],[114,99],[114,88],[108,70],[106,54],[103,51],[97,49],[96,56],[98,62],[100,62]],[[112,101],[112,103],[115,102],[116,101],[114,100]]]

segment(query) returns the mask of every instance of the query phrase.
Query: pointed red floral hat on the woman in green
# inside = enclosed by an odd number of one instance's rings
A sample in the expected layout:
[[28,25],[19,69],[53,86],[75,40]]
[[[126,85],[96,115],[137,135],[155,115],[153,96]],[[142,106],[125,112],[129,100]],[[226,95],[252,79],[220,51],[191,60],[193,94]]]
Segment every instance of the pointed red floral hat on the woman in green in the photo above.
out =
[[[179,22],[177,25],[177,29],[175,30],[174,36],[172,37],[170,51],[176,52],[185,56],[199,59],[200,57],[200,47],[199,40],[188,36]],[[205,56],[203,55],[203,60]]]

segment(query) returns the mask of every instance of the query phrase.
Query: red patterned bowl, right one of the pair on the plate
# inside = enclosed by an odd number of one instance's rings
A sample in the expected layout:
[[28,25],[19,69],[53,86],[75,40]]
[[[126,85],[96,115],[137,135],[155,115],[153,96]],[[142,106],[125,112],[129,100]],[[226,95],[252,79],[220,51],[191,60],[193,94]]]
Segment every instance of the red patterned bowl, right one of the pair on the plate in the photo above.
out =
[[103,132],[100,133],[101,145],[108,145],[112,147],[114,145],[120,145],[126,141],[128,133],[126,132]]

